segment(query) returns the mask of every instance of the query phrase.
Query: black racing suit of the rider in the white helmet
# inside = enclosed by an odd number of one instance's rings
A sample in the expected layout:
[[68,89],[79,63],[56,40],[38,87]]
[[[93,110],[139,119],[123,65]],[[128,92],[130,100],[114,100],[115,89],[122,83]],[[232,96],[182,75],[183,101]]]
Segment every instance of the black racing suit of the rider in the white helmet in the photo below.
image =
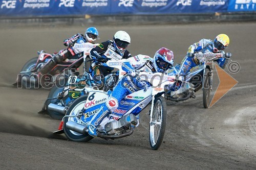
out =
[[111,74],[113,67],[109,67],[105,62],[111,58],[112,60],[127,59],[132,57],[129,51],[125,50],[120,54],[114,47],[113,41],[108,40],[101,42],[98,46],[92,48],[90,57],[94,59],[90,72],[94,81],[97,83],[96,87],[102,89],[104,86],[104,77]]

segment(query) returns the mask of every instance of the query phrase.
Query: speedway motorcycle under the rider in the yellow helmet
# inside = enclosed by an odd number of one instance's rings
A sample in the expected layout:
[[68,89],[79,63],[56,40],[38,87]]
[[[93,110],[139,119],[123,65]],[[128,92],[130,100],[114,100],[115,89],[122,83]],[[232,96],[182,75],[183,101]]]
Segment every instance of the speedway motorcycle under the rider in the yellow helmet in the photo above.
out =
[[[229,59],[231,53],[197,53],[195,58],[200,61],[200,64],[192,69],[176,83],[176,87],[180,88],[177,91],[166,90],[165,99],[170,101],[185,101],[189,98],[196,98],[194,92],[203,90],[203,106],[209,108],[210,91],[212,90],[212,79],[214,72],[214,61],[219,58]],[[230,60],[230,59],[229,59]],[[176,65],[173,72],[179,72],[180,65]],[[177,75],[179,77],[179,75]],[[178,79],[178,78],[177,78]],[[181,83],[181,85],[179,84]]]

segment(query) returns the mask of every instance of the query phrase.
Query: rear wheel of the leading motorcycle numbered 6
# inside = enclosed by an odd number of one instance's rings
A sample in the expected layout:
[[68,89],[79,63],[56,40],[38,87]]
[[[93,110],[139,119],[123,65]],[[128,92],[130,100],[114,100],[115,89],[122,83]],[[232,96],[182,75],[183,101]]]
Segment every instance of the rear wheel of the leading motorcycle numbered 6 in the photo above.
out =
[[[73,102],[69,109],[67,110],[66,115],[76,115],[82,108],[84,107],[84,104],[86,103],[87,100],[87,95],[80,96],[75,102]],[[91,140],[93,137],[90,136],[89,134],[83,135],[78,132],[74,132],[66,127],[66,123],[68,121],[72,121],[75,123],[80,123],[80,120],[78,117],[66,117],[63,121],[63,130],[65,135],[67,136],[68,139],[72,141],[77,141],[77,142],[87,142]]]

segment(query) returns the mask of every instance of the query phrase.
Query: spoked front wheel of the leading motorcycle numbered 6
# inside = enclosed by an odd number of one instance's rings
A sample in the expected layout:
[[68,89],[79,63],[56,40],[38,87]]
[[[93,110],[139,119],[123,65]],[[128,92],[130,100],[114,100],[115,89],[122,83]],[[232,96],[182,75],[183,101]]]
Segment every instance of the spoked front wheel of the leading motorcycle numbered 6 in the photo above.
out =
[[163,141],[166,118],[166,102],[163,96],[160,96],[155,100],[150,123],[150,145],[153,150],[157,150]]

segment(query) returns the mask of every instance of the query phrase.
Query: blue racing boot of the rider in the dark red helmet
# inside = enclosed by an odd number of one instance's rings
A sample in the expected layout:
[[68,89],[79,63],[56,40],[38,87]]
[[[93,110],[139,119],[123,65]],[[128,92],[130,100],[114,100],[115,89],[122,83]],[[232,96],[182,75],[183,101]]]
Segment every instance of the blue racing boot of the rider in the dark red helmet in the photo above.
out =
[[100,110],[93,116],[92,120],[89,122],[89,125],[87,127],[88,134],[92,137],[97,136],[97,128],[102,122],[102,120],[111,114],[110,109],[104,104]]

